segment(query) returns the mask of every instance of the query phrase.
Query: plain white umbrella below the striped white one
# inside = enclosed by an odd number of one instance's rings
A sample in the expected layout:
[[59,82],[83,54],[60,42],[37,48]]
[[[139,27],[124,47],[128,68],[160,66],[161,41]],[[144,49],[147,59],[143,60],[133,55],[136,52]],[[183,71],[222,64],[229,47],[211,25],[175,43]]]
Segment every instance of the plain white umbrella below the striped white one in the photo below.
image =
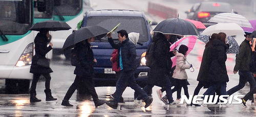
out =
[[237,23],[217,23],[207,27],[201,35],[208,35],[223,32],[227,36],[245,35],[244,30]]

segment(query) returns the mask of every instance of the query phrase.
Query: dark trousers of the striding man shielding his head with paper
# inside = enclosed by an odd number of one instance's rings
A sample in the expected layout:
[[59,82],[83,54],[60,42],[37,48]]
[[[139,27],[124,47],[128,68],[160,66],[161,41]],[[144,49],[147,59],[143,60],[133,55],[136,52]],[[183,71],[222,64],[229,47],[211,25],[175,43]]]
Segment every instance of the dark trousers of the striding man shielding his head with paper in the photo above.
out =
[[141,89],[141,87],[136,83],[134,77],[134,70],[121,71],[120,77],[116,83],[116,92],[114,101],[117,103],[122,96],[123,89],[126,87],[125,83],[128,82],[129,86],[135,90],[141,97],[145,100],[148,98],[147,94]]

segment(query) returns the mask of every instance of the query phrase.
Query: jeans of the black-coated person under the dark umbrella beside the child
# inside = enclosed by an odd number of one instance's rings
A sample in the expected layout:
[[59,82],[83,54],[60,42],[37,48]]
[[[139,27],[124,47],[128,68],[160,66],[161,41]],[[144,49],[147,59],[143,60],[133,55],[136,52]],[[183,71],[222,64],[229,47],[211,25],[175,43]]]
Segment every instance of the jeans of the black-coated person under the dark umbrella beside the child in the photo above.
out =
[[[165,89],[166,91],[166,96],[168,98],[169,103],[172,103],[174,101],[173,99],[173,92],[172,92],[172,83],[169,80],[168,75],[164,75],[165,78],[163,78],[163,80],[165,80],[165,84],[163,85],[163,89]],[[143,90],[146,93],[150,93],[152,91],[152,88],[154,87],[154,85],[152,84],[147,84]]]

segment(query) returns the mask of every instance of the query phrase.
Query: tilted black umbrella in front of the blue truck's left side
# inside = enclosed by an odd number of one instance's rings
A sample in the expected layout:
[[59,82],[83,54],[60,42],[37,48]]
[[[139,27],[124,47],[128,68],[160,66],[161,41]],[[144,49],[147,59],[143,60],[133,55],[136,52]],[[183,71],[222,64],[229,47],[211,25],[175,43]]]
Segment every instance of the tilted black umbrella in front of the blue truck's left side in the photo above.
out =
[[72,33],[71,35],[69,35],[62,49],[63,50],[71,49],[75,47],[76,43],[89,39],[91,37],[96,37],[95,40],[99,40],[103,38],[108,32],[109,32],[108,30],[98,25],[82,27],[79,30]]

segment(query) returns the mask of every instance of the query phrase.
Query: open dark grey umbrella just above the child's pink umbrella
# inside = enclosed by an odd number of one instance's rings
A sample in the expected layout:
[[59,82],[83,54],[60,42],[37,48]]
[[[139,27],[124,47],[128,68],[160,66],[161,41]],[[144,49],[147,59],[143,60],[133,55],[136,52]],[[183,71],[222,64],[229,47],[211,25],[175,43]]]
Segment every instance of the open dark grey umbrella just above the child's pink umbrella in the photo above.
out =
[[199,35],[197,27],[193,23],[180,18],[169,18],[161,21],[153,32],[180,36]]

